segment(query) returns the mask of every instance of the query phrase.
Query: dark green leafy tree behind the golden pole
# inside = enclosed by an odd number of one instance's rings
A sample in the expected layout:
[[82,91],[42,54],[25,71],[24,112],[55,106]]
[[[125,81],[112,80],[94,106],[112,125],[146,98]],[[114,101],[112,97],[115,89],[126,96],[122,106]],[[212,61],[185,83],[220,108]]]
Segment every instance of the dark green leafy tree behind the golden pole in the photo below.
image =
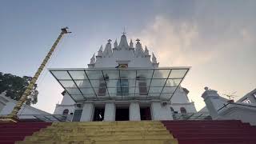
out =
[[[6,92],[6,97],[12,98],[16,101],[22,97],[22,94],[26,90],[26,87],[31,81],[31,77],[23,76],[18,77],[13,74],[3,74],[0,72],[0,94]],[[31,90],[31,94],[26,101],[27,105],[35,104],[38,102],[38,90],[37,85]]]

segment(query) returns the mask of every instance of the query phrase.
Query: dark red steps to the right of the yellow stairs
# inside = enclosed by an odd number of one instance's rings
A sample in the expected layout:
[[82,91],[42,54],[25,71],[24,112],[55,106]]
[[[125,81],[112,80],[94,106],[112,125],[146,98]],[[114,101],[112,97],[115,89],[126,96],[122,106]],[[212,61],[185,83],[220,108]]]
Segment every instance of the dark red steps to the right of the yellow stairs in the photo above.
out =
[[255,144],[256,126],[238,120],[162,121],[178,144]]

